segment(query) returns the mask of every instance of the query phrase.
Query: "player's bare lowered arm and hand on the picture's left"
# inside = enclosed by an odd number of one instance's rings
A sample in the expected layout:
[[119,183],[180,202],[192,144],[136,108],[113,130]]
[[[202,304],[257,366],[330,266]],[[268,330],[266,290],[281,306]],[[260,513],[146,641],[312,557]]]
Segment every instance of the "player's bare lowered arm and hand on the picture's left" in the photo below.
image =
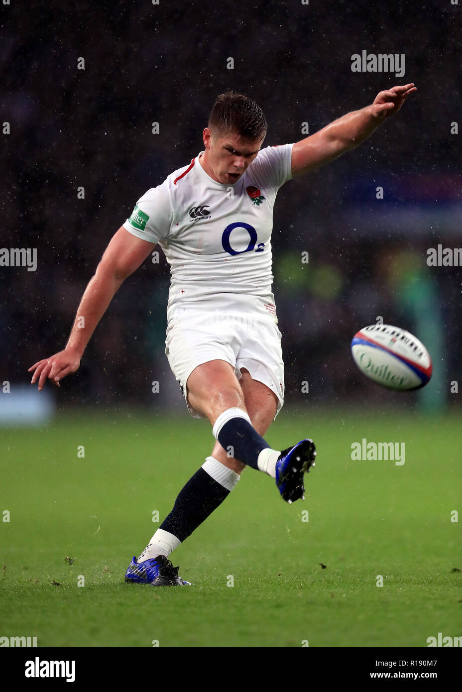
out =
[[47,379],[59,387],[59,380],[77,370],[86,345],[113,295],[124,279],[138,269],[155,247],[156,243],[136,237],[123,226],[113,235],[95,275],[82,295],[66,348],[50,358],[38,361],[28,370],[34,371],[32,384],[39,380],[39,392]]

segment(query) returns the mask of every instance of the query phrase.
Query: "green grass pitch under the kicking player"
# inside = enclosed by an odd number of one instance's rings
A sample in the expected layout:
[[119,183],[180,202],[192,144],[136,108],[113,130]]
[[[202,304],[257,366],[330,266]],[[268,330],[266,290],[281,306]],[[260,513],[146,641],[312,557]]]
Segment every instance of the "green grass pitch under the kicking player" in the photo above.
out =
[[[266,437],[283,448],[306,435],[318,450],[306,502],[289,506],[247,469],[172,556],[194,585],[155,589],[124,572],[158,527],[153,511],[162,521],[210,454],[210,425],[125,412],[0,430],[0,635],[137,647],[425,647],[462,635],[461,418],[284,409]],[[362,438],[405,442],[405,464],[352,461]]]

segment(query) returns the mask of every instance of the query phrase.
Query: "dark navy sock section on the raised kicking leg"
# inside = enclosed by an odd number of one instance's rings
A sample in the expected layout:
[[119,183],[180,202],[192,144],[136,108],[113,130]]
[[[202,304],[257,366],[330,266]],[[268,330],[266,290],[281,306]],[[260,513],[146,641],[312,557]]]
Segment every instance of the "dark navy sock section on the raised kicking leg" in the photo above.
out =
[[249,421],[240,416],[226,421],[215,437],[223,449],[230,452],[230,456],[257,470],[259,453],[270,446]]

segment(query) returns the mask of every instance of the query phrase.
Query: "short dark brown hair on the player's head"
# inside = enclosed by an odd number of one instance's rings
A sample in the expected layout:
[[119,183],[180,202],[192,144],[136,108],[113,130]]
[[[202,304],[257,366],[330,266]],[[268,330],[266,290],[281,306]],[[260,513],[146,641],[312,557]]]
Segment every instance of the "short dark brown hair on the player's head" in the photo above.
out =
[[237,91],[227,91],[216,97],[208,127],[222,137],[236,134],[243,140],[258,142],[266,137],[268,123],[255,101]]

